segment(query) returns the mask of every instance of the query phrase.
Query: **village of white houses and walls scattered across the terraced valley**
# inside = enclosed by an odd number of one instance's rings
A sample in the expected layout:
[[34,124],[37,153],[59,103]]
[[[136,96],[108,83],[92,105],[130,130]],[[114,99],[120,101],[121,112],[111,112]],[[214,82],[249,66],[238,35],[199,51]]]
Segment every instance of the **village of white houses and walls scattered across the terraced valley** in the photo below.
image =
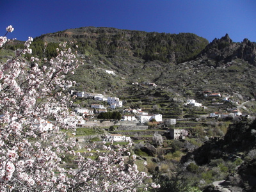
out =
[[[77,128],[90,128],[90,127],[110,127],[120,126],[122,129],[148,129],[148,123],[152,123],[161,127],[169,127],[167,132],[171,139],[180,140],[184,139],[188,135],[188,131],[185,129],[175,129],[177,119],[163,118],[163,115],[148,114],[146,111],[142,111],[141,108],[131,109],[124,108],[122,100],[118,97],[106,97],[99,93],[89,92],[74,92],[71,91],[71,95],[76,95],[77,98],[90,99],[100,101],[99,103],[92,103],[90,108],[76,108],[73,115],[68,116],[65,122],[74,122]],[[204,97],[218,97],[223,101],[229,101],[229,97],[221,95],[221,93],[204,92]],[[102,104],[104,103],[104,104]],[[219,102],[216,105],[220,105]],[[195,99],[188,99],[184,102],[184,106],[192,106],[195,108],[207,109],[202,103],[197,102]],[[120,120],[100,120],[97,116],[100,113],[106,113],[108,111],[114,111],[115,109],[122,109],[122,118]],[[58,109],[51,109],[57,110]],[[219,111],[204,115],[205,118],[234,118],[238,116],[247,116],[241,113],[238,108],[227,109],[225,113]],[[0,116],[1,118],[2,116]],[[54,122],[50,120],[38,119],[34,122],[34,126],[38,127],[40,131],[59,131]],[[127,127],[127,128],[124,128]],[[132,127],[132,128],[131,128]],[[130,137],[122,134],[107,134],[102,141],[129,141]]]

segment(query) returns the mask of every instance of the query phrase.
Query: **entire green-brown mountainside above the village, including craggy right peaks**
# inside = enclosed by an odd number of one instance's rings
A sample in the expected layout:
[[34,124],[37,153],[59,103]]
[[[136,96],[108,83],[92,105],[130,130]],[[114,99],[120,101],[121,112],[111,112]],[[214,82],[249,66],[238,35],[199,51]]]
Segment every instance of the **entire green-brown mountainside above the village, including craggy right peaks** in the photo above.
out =
[[77,58],[84,62],[74,76],[67,77],[77,82],[72,88],[77,91],[115,95],[131,106],[152,108],[158,104],[159,112],[169,110],[164,114],[168,117],[186,115],[180,109],[186,99],[211,103],[202,93],[206,90],[229,95],[238,103],[255,97],[256,49],[247,39],[236,43],[225,35],[208,44],[191,33],[87,27],[36,37],[31,49],[41,58],[51,58],[64,41],[78,45]]

